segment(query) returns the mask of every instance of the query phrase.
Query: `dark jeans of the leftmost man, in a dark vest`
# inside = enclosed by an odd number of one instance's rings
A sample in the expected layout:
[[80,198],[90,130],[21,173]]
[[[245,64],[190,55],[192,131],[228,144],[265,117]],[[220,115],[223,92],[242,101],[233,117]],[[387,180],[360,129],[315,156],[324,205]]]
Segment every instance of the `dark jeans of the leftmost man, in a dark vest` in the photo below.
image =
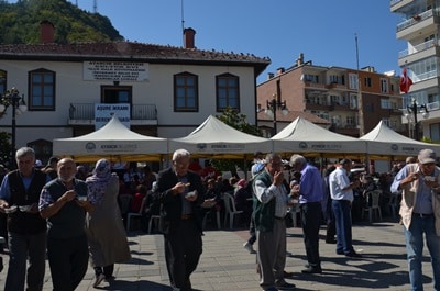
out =
[[[8,233],[9,266],[4,291],[43,290],[46,269],[46,232],[38,234]],[[28,268],[28,289],[24,288]]]

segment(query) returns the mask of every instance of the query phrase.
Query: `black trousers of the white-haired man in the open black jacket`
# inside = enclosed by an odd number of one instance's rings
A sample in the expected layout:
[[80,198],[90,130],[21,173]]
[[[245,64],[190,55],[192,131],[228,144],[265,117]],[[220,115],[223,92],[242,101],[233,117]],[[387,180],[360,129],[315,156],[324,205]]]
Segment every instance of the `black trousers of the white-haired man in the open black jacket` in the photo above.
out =
[[196,270],[202,251],[201,233],[193,219],[174,222],[165,238],[165,260],[172,287],[189,289],[189,277]]

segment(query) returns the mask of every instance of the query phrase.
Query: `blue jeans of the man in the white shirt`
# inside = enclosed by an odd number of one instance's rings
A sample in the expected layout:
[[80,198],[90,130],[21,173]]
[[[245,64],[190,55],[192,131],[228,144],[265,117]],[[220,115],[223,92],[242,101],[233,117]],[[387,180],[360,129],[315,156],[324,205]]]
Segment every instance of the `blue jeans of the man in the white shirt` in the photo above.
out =
[[331,201],[337,226],[337,254],[350,254],[353,250],[351,234],[351,203],[348,200]]

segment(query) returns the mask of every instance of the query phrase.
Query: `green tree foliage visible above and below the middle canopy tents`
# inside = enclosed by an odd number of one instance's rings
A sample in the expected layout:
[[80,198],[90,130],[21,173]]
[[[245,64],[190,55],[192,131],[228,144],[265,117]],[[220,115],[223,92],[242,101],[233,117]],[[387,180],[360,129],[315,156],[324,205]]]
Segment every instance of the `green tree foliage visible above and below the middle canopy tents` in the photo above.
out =
[[[246,122],[245,114],[239,113],[230,107],[228,107],[220,116],[216,115],[216,117],[243,133],[263,136],[261,130],[256,125]],[[231,171],[232,176],[237,176],[238,168],[244,171],[250,168],[250,161],[245,159],[211,159],[210,163],[220,171]]]

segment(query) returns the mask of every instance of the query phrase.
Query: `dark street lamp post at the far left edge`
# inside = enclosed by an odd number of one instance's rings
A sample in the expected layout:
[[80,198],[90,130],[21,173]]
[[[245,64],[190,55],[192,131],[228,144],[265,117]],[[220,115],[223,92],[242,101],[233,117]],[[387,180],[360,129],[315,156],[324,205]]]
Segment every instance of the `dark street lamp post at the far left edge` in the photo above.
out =
[[12,107],[12,124],[11,124],[11,153],[10,153],[10,165],[15,164],[15,128],[16,128],[16,115],[26,112],[28,107],[24,102],[24,94],[20,96],[19,90],[12,87],[11,91],[7,91],[0,100],[0,117],[2,117],[8,108]]

